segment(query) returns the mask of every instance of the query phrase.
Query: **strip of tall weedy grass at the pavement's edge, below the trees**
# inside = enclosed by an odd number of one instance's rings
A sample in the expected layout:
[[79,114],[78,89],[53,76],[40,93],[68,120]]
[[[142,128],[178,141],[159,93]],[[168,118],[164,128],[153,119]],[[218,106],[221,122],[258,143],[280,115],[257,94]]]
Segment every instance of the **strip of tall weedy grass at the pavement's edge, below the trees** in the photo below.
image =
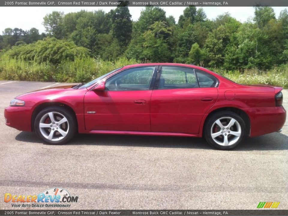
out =
[[[37,63],[0,55],[0,79],[25,81],[88,82],[136,60],[119,58],[116,61],[103,61],[100,58],[75,58],[59,64]],[[243,73],[214,69],[227,78],[242,84],[278,85],[288,88],[288,64],[274,67],[268,71],[247,69]]]

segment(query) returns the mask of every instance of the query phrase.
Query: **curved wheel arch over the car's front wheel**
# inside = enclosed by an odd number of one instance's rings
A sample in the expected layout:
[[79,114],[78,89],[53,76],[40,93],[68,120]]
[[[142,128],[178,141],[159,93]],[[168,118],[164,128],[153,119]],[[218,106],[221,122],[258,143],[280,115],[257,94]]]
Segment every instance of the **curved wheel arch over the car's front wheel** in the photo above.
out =
[[38,113],[40,113],[40,111],[45,109],[46,107],[51,107],[51,106],[59,106],[61,108],[64,108],[64,109],[70,111],[76,120],[76,124],[77,124],[76,127],[78,128],[78,121],[76,118],[76,113],[69,105],[61,103],[61,102],[44,102],[42,104],[38,104],[37,107],[35,107],[35,109],[33,110],[33,113],[31,116],[31,131],[35,131],[34,122],[35,122],[35,119],[36,119],[36,116],[38,115]]

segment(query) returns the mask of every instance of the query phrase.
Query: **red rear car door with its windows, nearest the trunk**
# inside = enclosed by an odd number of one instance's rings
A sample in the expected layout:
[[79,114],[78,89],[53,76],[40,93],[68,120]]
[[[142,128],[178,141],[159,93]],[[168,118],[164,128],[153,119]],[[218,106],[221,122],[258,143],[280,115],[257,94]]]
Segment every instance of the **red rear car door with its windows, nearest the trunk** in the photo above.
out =
[[202,80],[205,77],[204,81],[199,82],[190,67],[159,67],[151,96],[152,132],[199,132],[201,120],[216,102],[218,91],[214,76],[203,71],[198,73]]

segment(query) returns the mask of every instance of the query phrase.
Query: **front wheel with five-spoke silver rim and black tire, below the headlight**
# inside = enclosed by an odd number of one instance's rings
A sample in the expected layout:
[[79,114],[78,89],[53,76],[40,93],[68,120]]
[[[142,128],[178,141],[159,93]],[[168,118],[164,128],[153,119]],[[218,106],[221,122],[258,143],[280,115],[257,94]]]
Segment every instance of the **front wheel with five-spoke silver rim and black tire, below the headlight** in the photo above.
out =
[[64,144],[76,133],[76,121],[69,110],[47,107],[35,119],[35,132],[44,142]]

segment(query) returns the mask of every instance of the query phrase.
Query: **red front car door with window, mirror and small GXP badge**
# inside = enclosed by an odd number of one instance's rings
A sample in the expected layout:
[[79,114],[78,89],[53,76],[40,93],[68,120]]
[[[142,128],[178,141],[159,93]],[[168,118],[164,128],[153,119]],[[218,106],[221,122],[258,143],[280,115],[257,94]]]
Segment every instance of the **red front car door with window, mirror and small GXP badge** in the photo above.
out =
[[150,99],[157,68],[129,68],[109,77],[105,91],[88,91],[86,130],[151,131]]

